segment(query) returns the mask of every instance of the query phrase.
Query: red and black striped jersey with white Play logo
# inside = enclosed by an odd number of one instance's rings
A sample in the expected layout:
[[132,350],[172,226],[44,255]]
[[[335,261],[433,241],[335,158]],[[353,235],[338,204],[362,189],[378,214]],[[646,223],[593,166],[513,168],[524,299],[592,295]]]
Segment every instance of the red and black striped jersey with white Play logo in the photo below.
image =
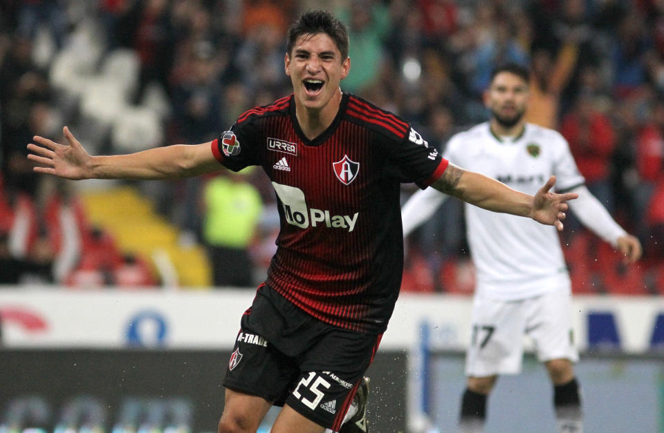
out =
[[447,160],[404,119],[349,94],[313,140],[291,95],[243,113],[212,151],[234,171],[262,166],[275,188],[267,285],[326,323],[385,331],[403,272],[400,183],[425,188]]

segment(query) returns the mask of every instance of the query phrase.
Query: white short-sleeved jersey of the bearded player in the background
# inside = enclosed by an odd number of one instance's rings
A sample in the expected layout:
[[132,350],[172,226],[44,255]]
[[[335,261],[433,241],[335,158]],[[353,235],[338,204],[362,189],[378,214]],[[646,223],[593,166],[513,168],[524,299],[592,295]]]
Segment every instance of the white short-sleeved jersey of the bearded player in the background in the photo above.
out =
[[[548,128],[526,124],[514,139],[500,139],[489,123],[454,135],[443,155],[463,169],[493,177],[535,195],[551,175],[555,189],[584,184],[566,140]],[[476,294],[516,300],[569,287],[569,273],[553,226],[465,204],[468,243],[477,269]]]

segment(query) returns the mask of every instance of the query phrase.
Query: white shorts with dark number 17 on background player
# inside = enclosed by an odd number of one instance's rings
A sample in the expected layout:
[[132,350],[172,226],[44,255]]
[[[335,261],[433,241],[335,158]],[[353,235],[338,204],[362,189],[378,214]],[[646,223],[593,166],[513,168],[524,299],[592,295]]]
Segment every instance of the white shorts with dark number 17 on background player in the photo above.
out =
[[571,327],[571,294],[556,290],[533,298],[503,301],[475,296],[466,376],[521,372],[524,335],[532,338],[537,359],[579,359]]

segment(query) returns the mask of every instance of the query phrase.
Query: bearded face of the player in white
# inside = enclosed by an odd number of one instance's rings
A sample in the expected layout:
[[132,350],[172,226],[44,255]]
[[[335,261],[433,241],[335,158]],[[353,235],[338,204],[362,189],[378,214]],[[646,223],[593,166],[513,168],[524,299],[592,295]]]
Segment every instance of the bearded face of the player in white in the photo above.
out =
[[526,112],[528,83],[513,73],[498,73],[484,95],[484,104],[501,126],[515,126]]

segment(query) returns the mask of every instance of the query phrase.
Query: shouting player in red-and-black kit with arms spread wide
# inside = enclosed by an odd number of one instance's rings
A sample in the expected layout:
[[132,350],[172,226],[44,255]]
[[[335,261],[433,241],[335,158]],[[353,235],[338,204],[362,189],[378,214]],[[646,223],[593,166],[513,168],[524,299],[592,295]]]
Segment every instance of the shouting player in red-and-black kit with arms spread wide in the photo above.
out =
[[[562,229],[573,193],[520,193],[448,164],[404,119],[343,93],[348,35],[329,12],[288,31],[293,94],[252,108],[212,142],[90,156],[29,144],[38,173],[70,179],[167,179],[261,166],[281,230],[267,280],[241,318],[228,363],[219,432],[255,432],[282,405],[273,432],[366,432],[363,374],[394,309],[403,267],[401,182],[428,185],[484,209]],[[232,270],[230,270],[232,271]],[[355,398],[357,396],[357,398]],[[347,421],[344,423],[344,421]]]

